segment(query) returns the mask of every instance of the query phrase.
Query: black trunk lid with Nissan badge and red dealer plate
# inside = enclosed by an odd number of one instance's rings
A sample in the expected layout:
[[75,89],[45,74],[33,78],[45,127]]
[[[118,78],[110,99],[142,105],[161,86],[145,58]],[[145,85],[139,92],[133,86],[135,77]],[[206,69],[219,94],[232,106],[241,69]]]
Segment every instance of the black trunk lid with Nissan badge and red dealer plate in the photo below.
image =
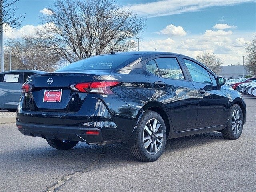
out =
[[[79,82],[92,82],[100,79],[96,74],[87,73],[48,73],[30,76],[27,83],[33,85],[32,92],[25,94],[25,108],[36,111],[78,112],[87,93],[74,92],[70,85]],[[47,95],[48,94],[48,95]],[[58,94],[58,101],[49,101],[46,96]]]

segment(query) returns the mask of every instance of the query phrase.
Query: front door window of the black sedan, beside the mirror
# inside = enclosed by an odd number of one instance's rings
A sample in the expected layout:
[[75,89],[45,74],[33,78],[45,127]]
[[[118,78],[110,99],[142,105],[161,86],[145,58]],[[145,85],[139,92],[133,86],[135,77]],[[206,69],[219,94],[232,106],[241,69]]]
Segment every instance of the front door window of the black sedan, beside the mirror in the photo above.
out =
[[206,69],[204,69],[203,67],[201,67],[200,65],[198,65],[193,61],[190,61],[187,59],[183,59],[183,60],[186,66],[188,67],[188,70],[194,82],[212,84],[212,80]]

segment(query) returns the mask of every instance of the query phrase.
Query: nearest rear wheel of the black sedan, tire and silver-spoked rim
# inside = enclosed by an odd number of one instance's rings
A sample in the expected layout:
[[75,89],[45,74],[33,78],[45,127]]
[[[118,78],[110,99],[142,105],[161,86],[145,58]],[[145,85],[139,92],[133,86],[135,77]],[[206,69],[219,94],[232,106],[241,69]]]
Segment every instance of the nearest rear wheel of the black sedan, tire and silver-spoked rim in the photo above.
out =
[[[157,120],[155,125],[155,130],[157,129],[157,131],[153,131],[152,129],[152,127],[154,126],[155,120]],[[151,136],[149,132],[147,132],[147,130],[145,129],[146,124],[147,124],[147,127],[150,126],[150,124],[152,124],[150,129],[150,132],[152,133]],[[158,126],[158,124],[160,124],[160,126]],[[150,144],[146,148],[148,143]],[[166,127],[164,124],[164,120],[162,119],[160,114],[154,111],[146,111],[142,115],[138,123],[134,144],[130,146],[131,154],[140,161],[152,162],[157,160],[162,155],[165,148],[165,144],[166,144]]]

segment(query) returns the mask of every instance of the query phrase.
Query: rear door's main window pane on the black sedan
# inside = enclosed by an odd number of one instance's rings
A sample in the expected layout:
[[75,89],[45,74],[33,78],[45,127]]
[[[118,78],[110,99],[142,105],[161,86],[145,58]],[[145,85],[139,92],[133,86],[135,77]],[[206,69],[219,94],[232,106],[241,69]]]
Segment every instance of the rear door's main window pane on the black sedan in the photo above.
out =
[[162,77],[184,80],[184,75],[176,58],[157,58],[156,64],[158,65]]

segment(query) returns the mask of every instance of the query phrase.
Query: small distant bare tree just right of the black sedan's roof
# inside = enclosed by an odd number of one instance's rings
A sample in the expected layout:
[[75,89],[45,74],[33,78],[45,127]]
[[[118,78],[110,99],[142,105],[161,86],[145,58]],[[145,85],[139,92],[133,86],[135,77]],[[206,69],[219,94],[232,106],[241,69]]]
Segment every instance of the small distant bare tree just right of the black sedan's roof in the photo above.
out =
[[216,55],[206,52],[203,52],[202,55],[197,55],[196,59],[215,73],[220,72],[220,65],[223,64],[222,60],[220,58],[217,58]]

